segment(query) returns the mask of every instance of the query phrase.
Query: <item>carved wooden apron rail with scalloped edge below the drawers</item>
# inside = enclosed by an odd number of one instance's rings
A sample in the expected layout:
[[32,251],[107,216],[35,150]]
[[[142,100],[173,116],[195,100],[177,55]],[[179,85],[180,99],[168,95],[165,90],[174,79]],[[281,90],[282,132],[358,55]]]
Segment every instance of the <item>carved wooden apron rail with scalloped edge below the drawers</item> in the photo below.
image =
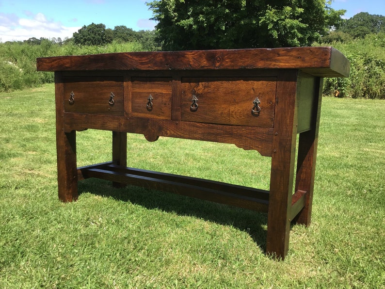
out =
[[128,119],[112,115],[69,112],[64,114],[65,131],[71,131],[73,129],[81,131],[86,128],[94,128],[139,133],[145,136],[165,136],[220,142],[235,144],[243,149],[257,150],[262,156],[270,157],[272,155],[273,128],[256,129],[255,127],[224,126],[172,120]]

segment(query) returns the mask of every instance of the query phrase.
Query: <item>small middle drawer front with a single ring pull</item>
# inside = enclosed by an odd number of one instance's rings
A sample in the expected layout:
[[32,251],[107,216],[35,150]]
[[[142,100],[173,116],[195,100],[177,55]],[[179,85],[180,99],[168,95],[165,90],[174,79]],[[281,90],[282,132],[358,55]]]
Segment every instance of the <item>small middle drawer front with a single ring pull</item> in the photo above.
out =
[[171,119],[172,78],[131,78],[131,115]]

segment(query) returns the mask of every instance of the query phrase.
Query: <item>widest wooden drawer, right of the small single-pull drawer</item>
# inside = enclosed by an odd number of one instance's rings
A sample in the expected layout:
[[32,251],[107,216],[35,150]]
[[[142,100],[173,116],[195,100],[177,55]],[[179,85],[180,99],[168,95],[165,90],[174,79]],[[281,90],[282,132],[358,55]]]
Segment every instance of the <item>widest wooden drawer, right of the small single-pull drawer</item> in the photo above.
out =
[[275,90],[275,77],[182,78],[181,120],[272,128]]

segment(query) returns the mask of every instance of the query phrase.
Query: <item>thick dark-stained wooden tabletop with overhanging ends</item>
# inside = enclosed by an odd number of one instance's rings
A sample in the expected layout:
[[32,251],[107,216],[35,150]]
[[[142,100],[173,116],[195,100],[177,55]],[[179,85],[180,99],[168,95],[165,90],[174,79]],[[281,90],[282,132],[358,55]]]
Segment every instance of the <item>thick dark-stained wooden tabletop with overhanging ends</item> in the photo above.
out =
[[347,77],[350,64],[331,47],[120,52],[37,59],[39,71],[299,69],[320,77]]

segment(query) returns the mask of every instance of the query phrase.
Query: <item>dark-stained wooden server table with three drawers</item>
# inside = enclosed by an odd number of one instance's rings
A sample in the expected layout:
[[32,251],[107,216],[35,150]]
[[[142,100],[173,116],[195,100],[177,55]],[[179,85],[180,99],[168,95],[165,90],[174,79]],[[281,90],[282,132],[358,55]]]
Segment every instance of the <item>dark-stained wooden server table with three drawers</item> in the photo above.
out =
[[[284,258],[290,223],[310,224],[322,79],[349,68],[329,47],[38,58],[55,72],[59,198],[77,200],[78,180],[97,177],[267,212],[266,251]],[[87,128],[112,131],[112,161],[77,168]],[[272,158],[270,190],[128,168],[127,132],[257,150]]]

